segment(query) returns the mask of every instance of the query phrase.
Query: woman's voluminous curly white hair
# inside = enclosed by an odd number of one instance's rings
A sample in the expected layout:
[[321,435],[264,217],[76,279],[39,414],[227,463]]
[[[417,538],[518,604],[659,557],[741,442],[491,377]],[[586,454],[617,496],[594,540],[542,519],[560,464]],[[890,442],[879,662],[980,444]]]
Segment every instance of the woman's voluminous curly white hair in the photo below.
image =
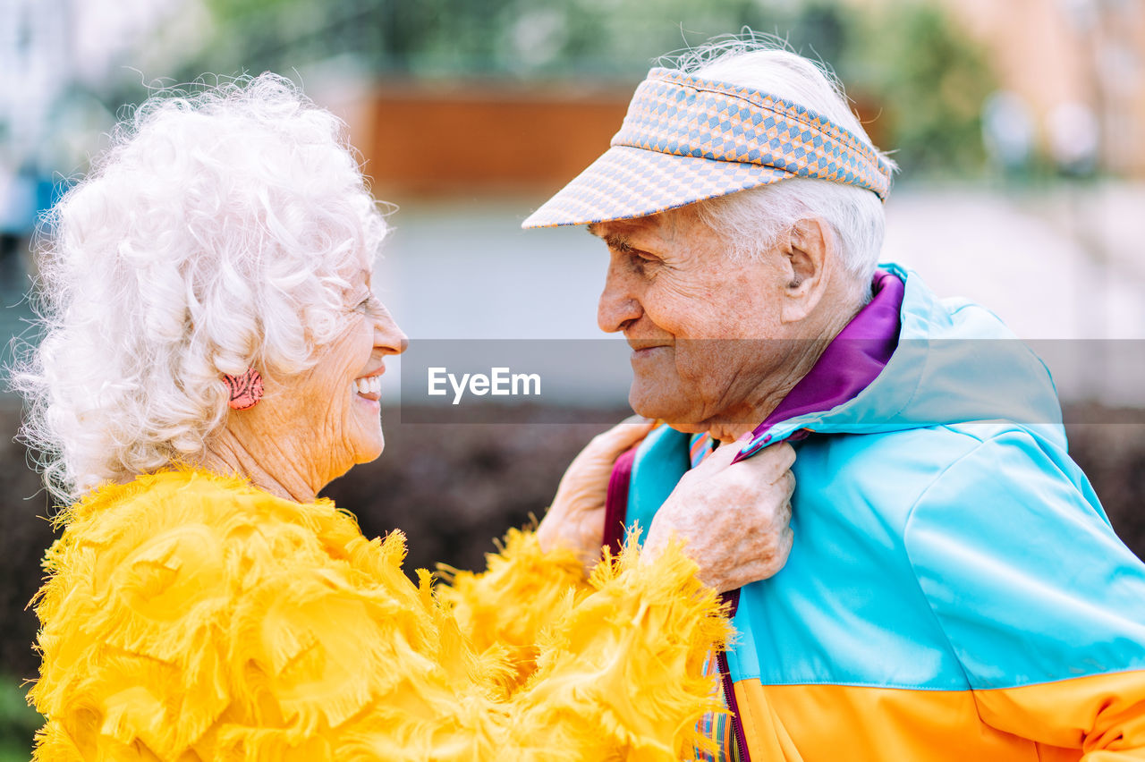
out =
[[13,378],[49,490],[199,455],[222,375],[313,366],[385,233],[345,124],[290,81],[147,101],[40,233],[42,340]]

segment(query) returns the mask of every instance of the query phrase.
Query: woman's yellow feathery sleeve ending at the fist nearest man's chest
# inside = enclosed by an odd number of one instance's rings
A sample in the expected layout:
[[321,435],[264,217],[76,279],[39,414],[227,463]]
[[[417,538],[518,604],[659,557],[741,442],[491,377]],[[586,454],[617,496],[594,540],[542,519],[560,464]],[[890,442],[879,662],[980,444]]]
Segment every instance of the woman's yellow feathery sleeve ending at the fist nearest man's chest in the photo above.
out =
[[[512,563],[512,554],[504,559]],[[652,564],[635,551],[606,559],[586,589],[568,590],[538,612],[548,624],[536,629],[532,674],[522,684],[499,683],[504,693],[481,715],[459,714],[450,708],[457,698],[447,698],[440,728],[450,730],[408,759],[666,762],[708,748],[696,721],[720,705],[703,664],[729,630],[717,595],[694,572],[679,548]],[[539,604],[550,601],[526,598],[512,610],[529,618]],[[453,691],[457,682],[447,684]],[[366,725],[368,755],[392,759],[401,729]]]

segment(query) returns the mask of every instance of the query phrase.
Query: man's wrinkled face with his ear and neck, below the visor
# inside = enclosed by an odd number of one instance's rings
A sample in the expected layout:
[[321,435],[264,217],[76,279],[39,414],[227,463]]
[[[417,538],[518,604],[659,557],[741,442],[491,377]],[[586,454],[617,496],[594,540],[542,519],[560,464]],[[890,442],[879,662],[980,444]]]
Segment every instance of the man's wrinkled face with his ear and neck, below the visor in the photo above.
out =
[[629,402],[680,431],[731,442],[751,430],[861,303],[818,221],[748,260],[729,257],[692,206],[590,232],[609,252],[597,322],[632,347]]

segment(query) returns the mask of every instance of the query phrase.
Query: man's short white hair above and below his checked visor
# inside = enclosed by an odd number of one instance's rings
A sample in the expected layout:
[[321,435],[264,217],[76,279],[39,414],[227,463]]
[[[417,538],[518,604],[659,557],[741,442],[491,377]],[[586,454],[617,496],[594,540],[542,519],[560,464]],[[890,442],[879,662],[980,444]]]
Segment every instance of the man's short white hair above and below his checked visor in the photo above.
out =
[[[703,79],[750,87],[815,111],[870,143],[834,74],[761,35],[709,42],[681,55],[674,68]],[[874,146],[874,144],[871,143]],[[877,149],[876,149],[877,151]],[[879,151],[892,168],[894,162]],[[733,256],[756,256],[803,220],[820,219],[835,235],[846,272],[870,283],[883,247],[883,204],[869,190],[826,180],[795,177],[696,205],[701,221]],[[862,289],[864,300],[869,288]]]

